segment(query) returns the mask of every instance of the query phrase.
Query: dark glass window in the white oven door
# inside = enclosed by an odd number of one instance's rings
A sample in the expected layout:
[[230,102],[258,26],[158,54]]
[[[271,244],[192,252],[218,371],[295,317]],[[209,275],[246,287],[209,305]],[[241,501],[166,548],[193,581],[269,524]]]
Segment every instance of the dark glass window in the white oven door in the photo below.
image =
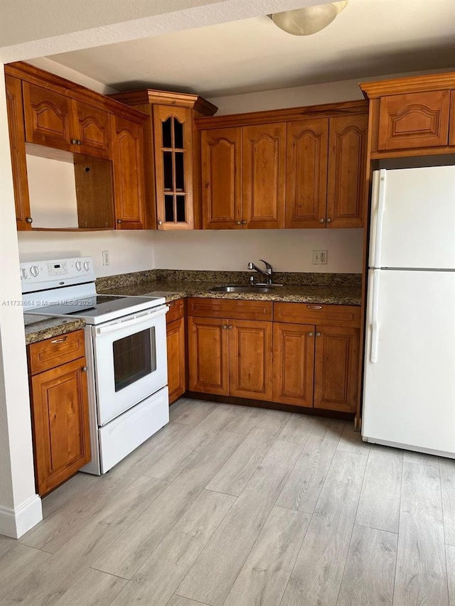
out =
[[155,328],[134,332],[112,343],[115,391],[136,383],[156,370]]

